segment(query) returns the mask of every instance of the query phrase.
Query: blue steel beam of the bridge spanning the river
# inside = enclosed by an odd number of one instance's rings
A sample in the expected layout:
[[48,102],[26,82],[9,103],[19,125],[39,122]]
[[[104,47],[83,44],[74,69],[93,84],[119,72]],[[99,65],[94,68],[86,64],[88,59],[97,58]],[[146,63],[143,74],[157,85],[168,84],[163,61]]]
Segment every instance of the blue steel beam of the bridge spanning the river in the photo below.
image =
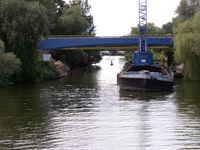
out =
[[[138,46],[139,37],[50,37],[38,43],[40,51],[72,48],[132,47]],[[172,37],[147,37],[149,47],[173,47]]]

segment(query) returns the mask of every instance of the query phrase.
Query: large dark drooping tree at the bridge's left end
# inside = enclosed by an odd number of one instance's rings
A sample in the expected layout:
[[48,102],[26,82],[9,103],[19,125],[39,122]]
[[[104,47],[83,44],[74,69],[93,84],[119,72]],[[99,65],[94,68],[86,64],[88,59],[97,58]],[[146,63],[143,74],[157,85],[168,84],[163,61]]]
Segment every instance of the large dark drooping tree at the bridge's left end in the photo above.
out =
[[39,2],[1,0],[0,36],[7,50],[14,52],[22,62],[24,81],[41,79],[37,42],[51,28],[48,10]]

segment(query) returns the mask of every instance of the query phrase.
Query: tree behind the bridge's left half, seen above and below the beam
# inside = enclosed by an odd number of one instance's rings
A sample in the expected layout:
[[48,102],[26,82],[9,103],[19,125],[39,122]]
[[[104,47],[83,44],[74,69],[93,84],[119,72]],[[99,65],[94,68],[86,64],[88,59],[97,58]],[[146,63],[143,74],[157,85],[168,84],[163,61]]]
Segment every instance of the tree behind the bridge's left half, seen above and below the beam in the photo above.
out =
[[[72,0],[63,8],[63,13],[58,17],[53,29],[55,35],[95,35],[93,16],[90,14],[87,0]],[[53,55],[57,60],[62,60],[72,69],[96,63],[101,60],[98,51],[62,51]]]

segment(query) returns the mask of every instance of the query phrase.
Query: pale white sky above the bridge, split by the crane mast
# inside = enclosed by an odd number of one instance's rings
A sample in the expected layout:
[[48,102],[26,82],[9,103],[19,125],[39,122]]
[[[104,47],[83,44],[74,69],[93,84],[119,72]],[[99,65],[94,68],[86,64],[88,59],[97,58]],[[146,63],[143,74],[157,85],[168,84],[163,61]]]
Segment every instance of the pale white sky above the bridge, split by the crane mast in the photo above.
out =
[[[138,24],[139,0],[88,0],[97,36],[124,36]],[[148,22],[162,27],[176,16],[180,0],[147,0]]]

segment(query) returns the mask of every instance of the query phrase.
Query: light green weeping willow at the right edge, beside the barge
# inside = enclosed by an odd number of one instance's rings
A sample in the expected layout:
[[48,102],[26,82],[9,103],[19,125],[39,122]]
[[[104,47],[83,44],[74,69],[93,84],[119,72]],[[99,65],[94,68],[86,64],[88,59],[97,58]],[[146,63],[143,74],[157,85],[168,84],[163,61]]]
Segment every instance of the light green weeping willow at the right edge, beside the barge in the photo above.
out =
[[185,66],[186,77],[200,79],[200,11],[176,28],[175,58]]

